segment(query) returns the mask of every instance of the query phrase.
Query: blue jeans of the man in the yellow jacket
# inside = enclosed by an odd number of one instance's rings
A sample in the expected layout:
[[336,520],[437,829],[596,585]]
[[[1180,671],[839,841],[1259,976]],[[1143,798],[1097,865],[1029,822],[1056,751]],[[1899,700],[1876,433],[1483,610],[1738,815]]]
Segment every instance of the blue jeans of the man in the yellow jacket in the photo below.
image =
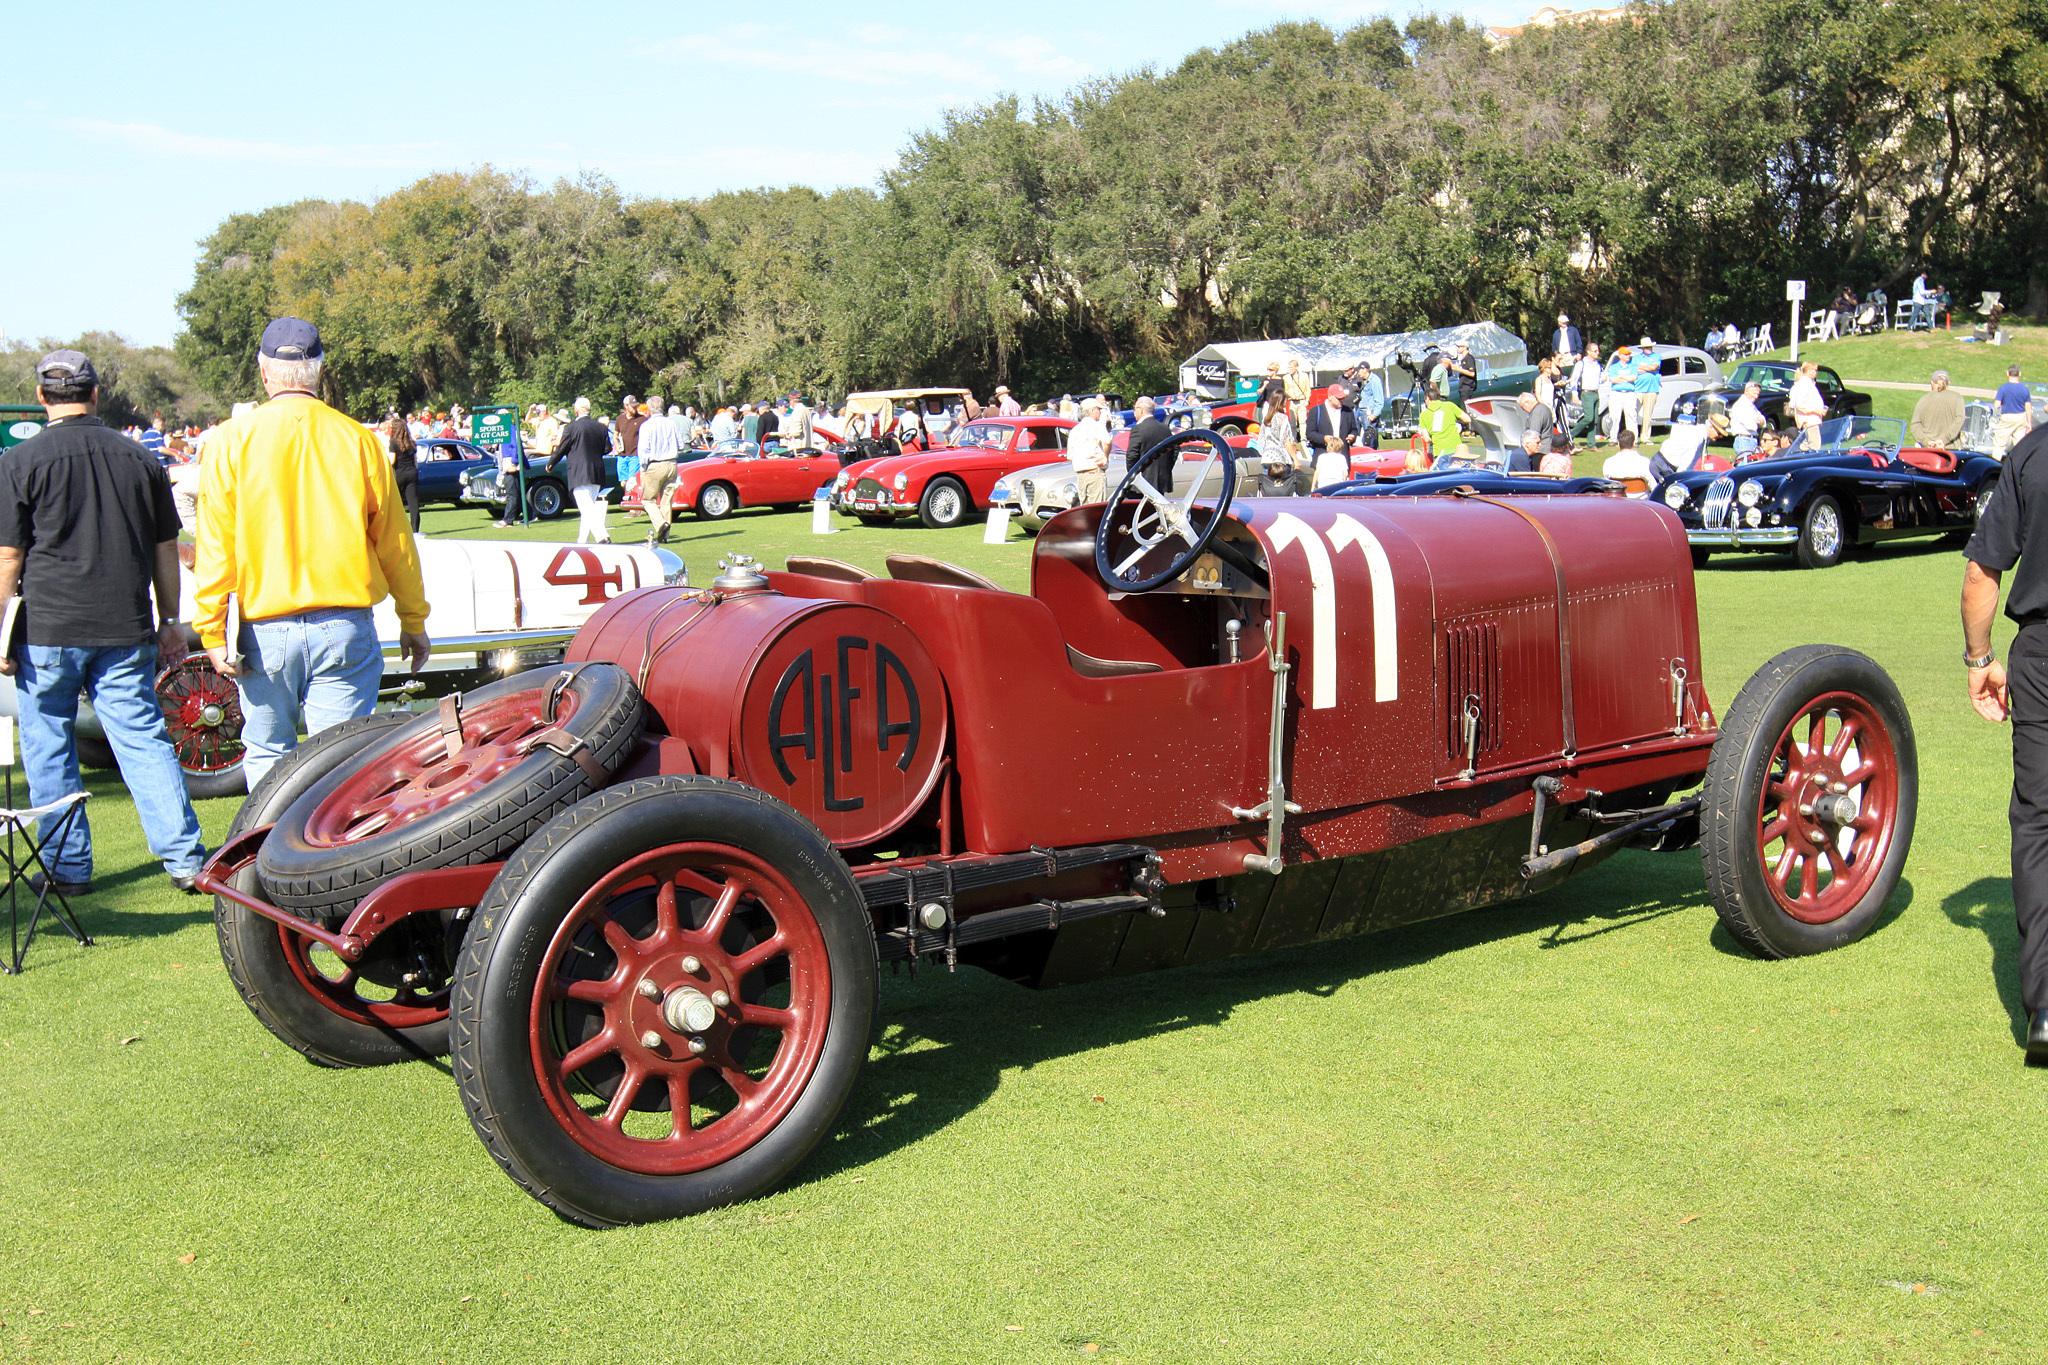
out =
[[242,622],[242,774],[250,790],[299,747],[299,731],[377,710],[383,649],[371,610],[322,608]]

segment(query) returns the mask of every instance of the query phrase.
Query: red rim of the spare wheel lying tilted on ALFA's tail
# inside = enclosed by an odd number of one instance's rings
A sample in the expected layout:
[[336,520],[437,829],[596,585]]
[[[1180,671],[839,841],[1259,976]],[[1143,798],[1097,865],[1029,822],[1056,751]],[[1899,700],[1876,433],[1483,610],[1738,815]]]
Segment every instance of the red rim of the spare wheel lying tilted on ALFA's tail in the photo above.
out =
[[547,720],[547,690],[514,692],[463,712],[455,755],[436,726],[369,755],[305,823],[313,847],[340,847],[403,829],[467,800],[532,753],[539,737],[575,714],[575,690],[563,688]]

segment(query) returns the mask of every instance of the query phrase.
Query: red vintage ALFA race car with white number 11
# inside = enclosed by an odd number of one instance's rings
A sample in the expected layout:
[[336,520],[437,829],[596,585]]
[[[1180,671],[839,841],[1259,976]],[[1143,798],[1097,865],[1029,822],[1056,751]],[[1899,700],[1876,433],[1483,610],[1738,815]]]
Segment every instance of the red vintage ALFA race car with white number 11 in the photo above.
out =
[[1047,524],[1028,593],[731,563],[612,600],[561,671],[313,737],[203,874],[233,984],[324,1064],[453,1050],[500,1166],[608,1226],[782,1181],[854,1089],[879,962],[1212,962],[1624,845],[1698,847],[1765,958],[1880,917],[1917,806],[1896,688],[1806,645],[1716,712],[1669,510],[1167,499],[1145,465]]

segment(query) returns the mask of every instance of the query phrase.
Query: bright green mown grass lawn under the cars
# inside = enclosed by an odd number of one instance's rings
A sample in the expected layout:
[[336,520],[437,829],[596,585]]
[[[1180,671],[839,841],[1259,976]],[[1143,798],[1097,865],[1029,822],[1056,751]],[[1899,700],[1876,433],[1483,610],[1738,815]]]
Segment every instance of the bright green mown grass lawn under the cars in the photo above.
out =
[[[674,548],[698,583],[735,551],[909,548],[1014,587],[1028,553],[807,514]],[[1507,911],[1147,978],[885,976],[788,1187],[602,1234],[500,1175],[444,1066],[270,1040],[96,776],[98,945],[0,980],[0,1359],[2042,1359],[2048,1074],[2015,1046],[2007,737],[1962,696],[1958,579],[1931,546],[1698,577],[1722,710],[1810,641],[1913,708],[1919,837],[1855,948],[1747,958],[1696,855],[1624,853]]]

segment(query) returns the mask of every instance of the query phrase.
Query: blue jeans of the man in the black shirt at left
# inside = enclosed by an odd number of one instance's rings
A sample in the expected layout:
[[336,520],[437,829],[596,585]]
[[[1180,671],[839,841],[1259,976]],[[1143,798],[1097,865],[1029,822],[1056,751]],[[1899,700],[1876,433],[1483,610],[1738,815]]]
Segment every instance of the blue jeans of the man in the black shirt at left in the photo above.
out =
[[[174,876],[199,872],[207,849],[199,841],[199,817],[193,814],[184,769],[178,767],[164,731],[164,708],[156,700],[156,645],[25,645],[14,655],[20,763],[29,772],[29,800],[41,806],[84,790],[78,782],[78,745],[72,739],[80,692],[92,698],[92,710],[100,714],[150,851]],[[45,860],[59,882],[84,882],[92,876],[92,827],[84,810]]]

